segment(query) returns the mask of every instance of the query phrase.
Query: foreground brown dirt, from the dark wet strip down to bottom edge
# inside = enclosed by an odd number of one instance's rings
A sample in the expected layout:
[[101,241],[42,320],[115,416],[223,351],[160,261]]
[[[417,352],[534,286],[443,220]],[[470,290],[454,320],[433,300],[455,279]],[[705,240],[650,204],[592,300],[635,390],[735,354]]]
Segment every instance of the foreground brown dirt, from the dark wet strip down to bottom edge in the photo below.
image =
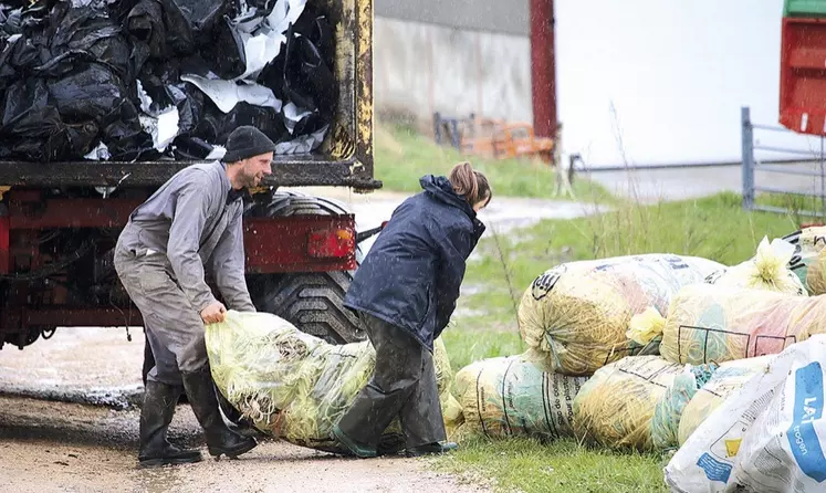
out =
[[[238,460],[136,468],[137,411],[0,396],[3,492],[410,492],[483,491],[409,459],[356,460],[268,440]],[[179,406],[178,443],[199,447]]]

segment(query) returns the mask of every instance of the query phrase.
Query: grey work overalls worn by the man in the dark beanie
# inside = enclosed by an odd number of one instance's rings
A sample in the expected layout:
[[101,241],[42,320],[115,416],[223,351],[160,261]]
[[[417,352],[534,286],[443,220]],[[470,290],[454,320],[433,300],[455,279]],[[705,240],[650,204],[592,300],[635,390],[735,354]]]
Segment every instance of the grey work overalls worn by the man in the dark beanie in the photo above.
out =
[[121,233],[115,269],[155,355],[148,379],[181,385],[181,371],[208,363],[200,312],[216,298],[206,270],[228,310],[255,310],[244,277],[242,210],[222,162],[194,165],[137,208]]

